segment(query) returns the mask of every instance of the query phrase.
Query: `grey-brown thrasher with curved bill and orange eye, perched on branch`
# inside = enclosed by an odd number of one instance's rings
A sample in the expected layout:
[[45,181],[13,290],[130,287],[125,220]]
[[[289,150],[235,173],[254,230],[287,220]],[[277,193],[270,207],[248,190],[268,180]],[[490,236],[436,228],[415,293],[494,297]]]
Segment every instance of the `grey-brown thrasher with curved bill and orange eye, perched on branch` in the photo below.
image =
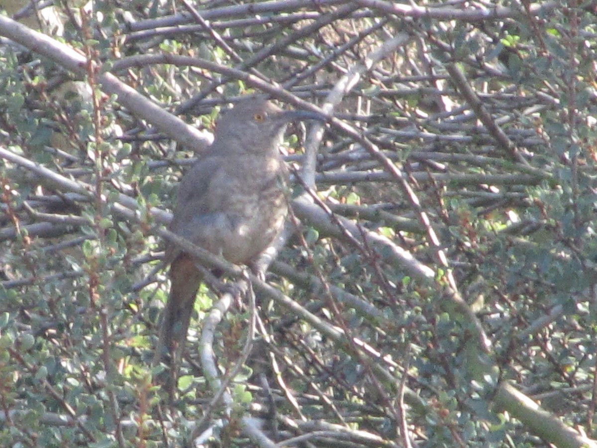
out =
[[[297,119],[322,117],[282,111],[263,97],[242,100],[226,113],[207,153],[180,183],[170,230],[229,262],[255,263],[284,226],[287,173],[278,146],[287,123]],[[173,244],[166,246],[165,262],[171,263],[170,297],[154,364],[170,366],[173,386],[202,275]]]

